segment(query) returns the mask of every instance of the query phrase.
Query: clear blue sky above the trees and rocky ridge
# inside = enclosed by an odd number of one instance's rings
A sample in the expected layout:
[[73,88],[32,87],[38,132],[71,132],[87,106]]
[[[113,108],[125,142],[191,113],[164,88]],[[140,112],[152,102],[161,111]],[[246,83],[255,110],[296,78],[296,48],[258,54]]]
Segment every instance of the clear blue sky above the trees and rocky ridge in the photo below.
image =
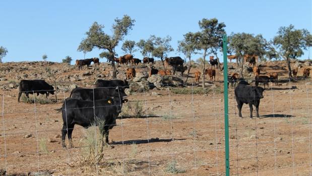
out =
[[[114,19],[122,18],[124,14],[136,20],[133,30],[124,39],[137,42],[150,35],[169,35],[175,50],[183,34],[199,31],[198,22],[203,18],[217,18],[224,22],[228,34],[263,34],[270,40],[280,26],[290,24],[311,32],[311,6],[311,0],[2,1],[0,46],[9,50],[3,62],[42,61],[43,54],[53,62],[61,62],[67,55],[73,60],[81,59],[84,54],[77,48],[92,23],[97,21],[104,25],[104,31],[110,34]],[[123,54],[121,45],[122,41],[116,48],[119,55]],[[98,57],[100,52],[94,49],[86,54],[86,58]],[[309,52],[304,53],[303,59]],[[183,58],[176,51],[169,54],[175,55]],[[142,57],[139,51],[135,56]],[[198,57],[194,56],[194,59]]]

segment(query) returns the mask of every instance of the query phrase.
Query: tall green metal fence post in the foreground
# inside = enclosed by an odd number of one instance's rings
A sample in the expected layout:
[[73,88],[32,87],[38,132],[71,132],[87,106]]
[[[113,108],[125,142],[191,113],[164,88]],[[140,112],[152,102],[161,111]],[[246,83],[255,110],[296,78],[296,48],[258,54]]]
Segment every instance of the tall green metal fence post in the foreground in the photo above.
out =
[[228,87],[227,87],[227,36],[223,35],[223,76],[224,76],[224,138],[225,138],[225,175],[230,175],[229,127],[228,127]]

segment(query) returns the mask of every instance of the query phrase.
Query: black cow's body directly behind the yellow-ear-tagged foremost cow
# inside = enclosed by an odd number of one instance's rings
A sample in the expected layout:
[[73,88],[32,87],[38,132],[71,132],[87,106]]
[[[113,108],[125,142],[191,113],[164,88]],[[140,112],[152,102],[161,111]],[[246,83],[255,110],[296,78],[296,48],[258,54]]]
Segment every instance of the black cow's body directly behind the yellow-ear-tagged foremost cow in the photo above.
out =
[[120,98],[127,97],[127,94],[124,93],[124,89],[121,87],[97,87],[94,89],[87,88],[75,88],[70,94],[70,98],[93,101],[104,99],[107,97],[120,96]]

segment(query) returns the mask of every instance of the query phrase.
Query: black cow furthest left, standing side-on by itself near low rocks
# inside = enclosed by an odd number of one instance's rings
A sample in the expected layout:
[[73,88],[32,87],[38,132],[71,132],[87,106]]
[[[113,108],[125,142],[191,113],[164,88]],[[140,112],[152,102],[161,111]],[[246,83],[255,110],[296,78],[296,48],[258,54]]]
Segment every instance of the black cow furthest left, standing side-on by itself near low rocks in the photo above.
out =
[[25,93],[28,98],[28,94],[33,93],[37,93],[37,96],[39,93],[46,94],[46,97],[48,97],[49,93],[53,95],[54,91],[53,86],[49,85],[44,80],[21,80],[18,102],[20,102],[22,93]]

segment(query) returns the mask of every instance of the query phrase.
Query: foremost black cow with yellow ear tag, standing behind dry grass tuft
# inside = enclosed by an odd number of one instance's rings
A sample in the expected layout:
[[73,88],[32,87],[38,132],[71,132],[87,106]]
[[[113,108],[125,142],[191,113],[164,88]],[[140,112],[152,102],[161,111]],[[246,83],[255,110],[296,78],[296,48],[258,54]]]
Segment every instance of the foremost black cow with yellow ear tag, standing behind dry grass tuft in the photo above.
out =
[[65,137],[68,133],[69,147],[73,147],[72,133],[76,124],[88,128],[92,125],[97,125],[102,130],[105,136],[104,144],[108,145],[109,129],[115,125],[115,120],[121,112],[122,101],[119,97],[109,97],[106,99],[93,101],[84,101],[79,99],[68,98],[63,103],[58,112],[62,112],[63,129],[62,147],[65,145]]

